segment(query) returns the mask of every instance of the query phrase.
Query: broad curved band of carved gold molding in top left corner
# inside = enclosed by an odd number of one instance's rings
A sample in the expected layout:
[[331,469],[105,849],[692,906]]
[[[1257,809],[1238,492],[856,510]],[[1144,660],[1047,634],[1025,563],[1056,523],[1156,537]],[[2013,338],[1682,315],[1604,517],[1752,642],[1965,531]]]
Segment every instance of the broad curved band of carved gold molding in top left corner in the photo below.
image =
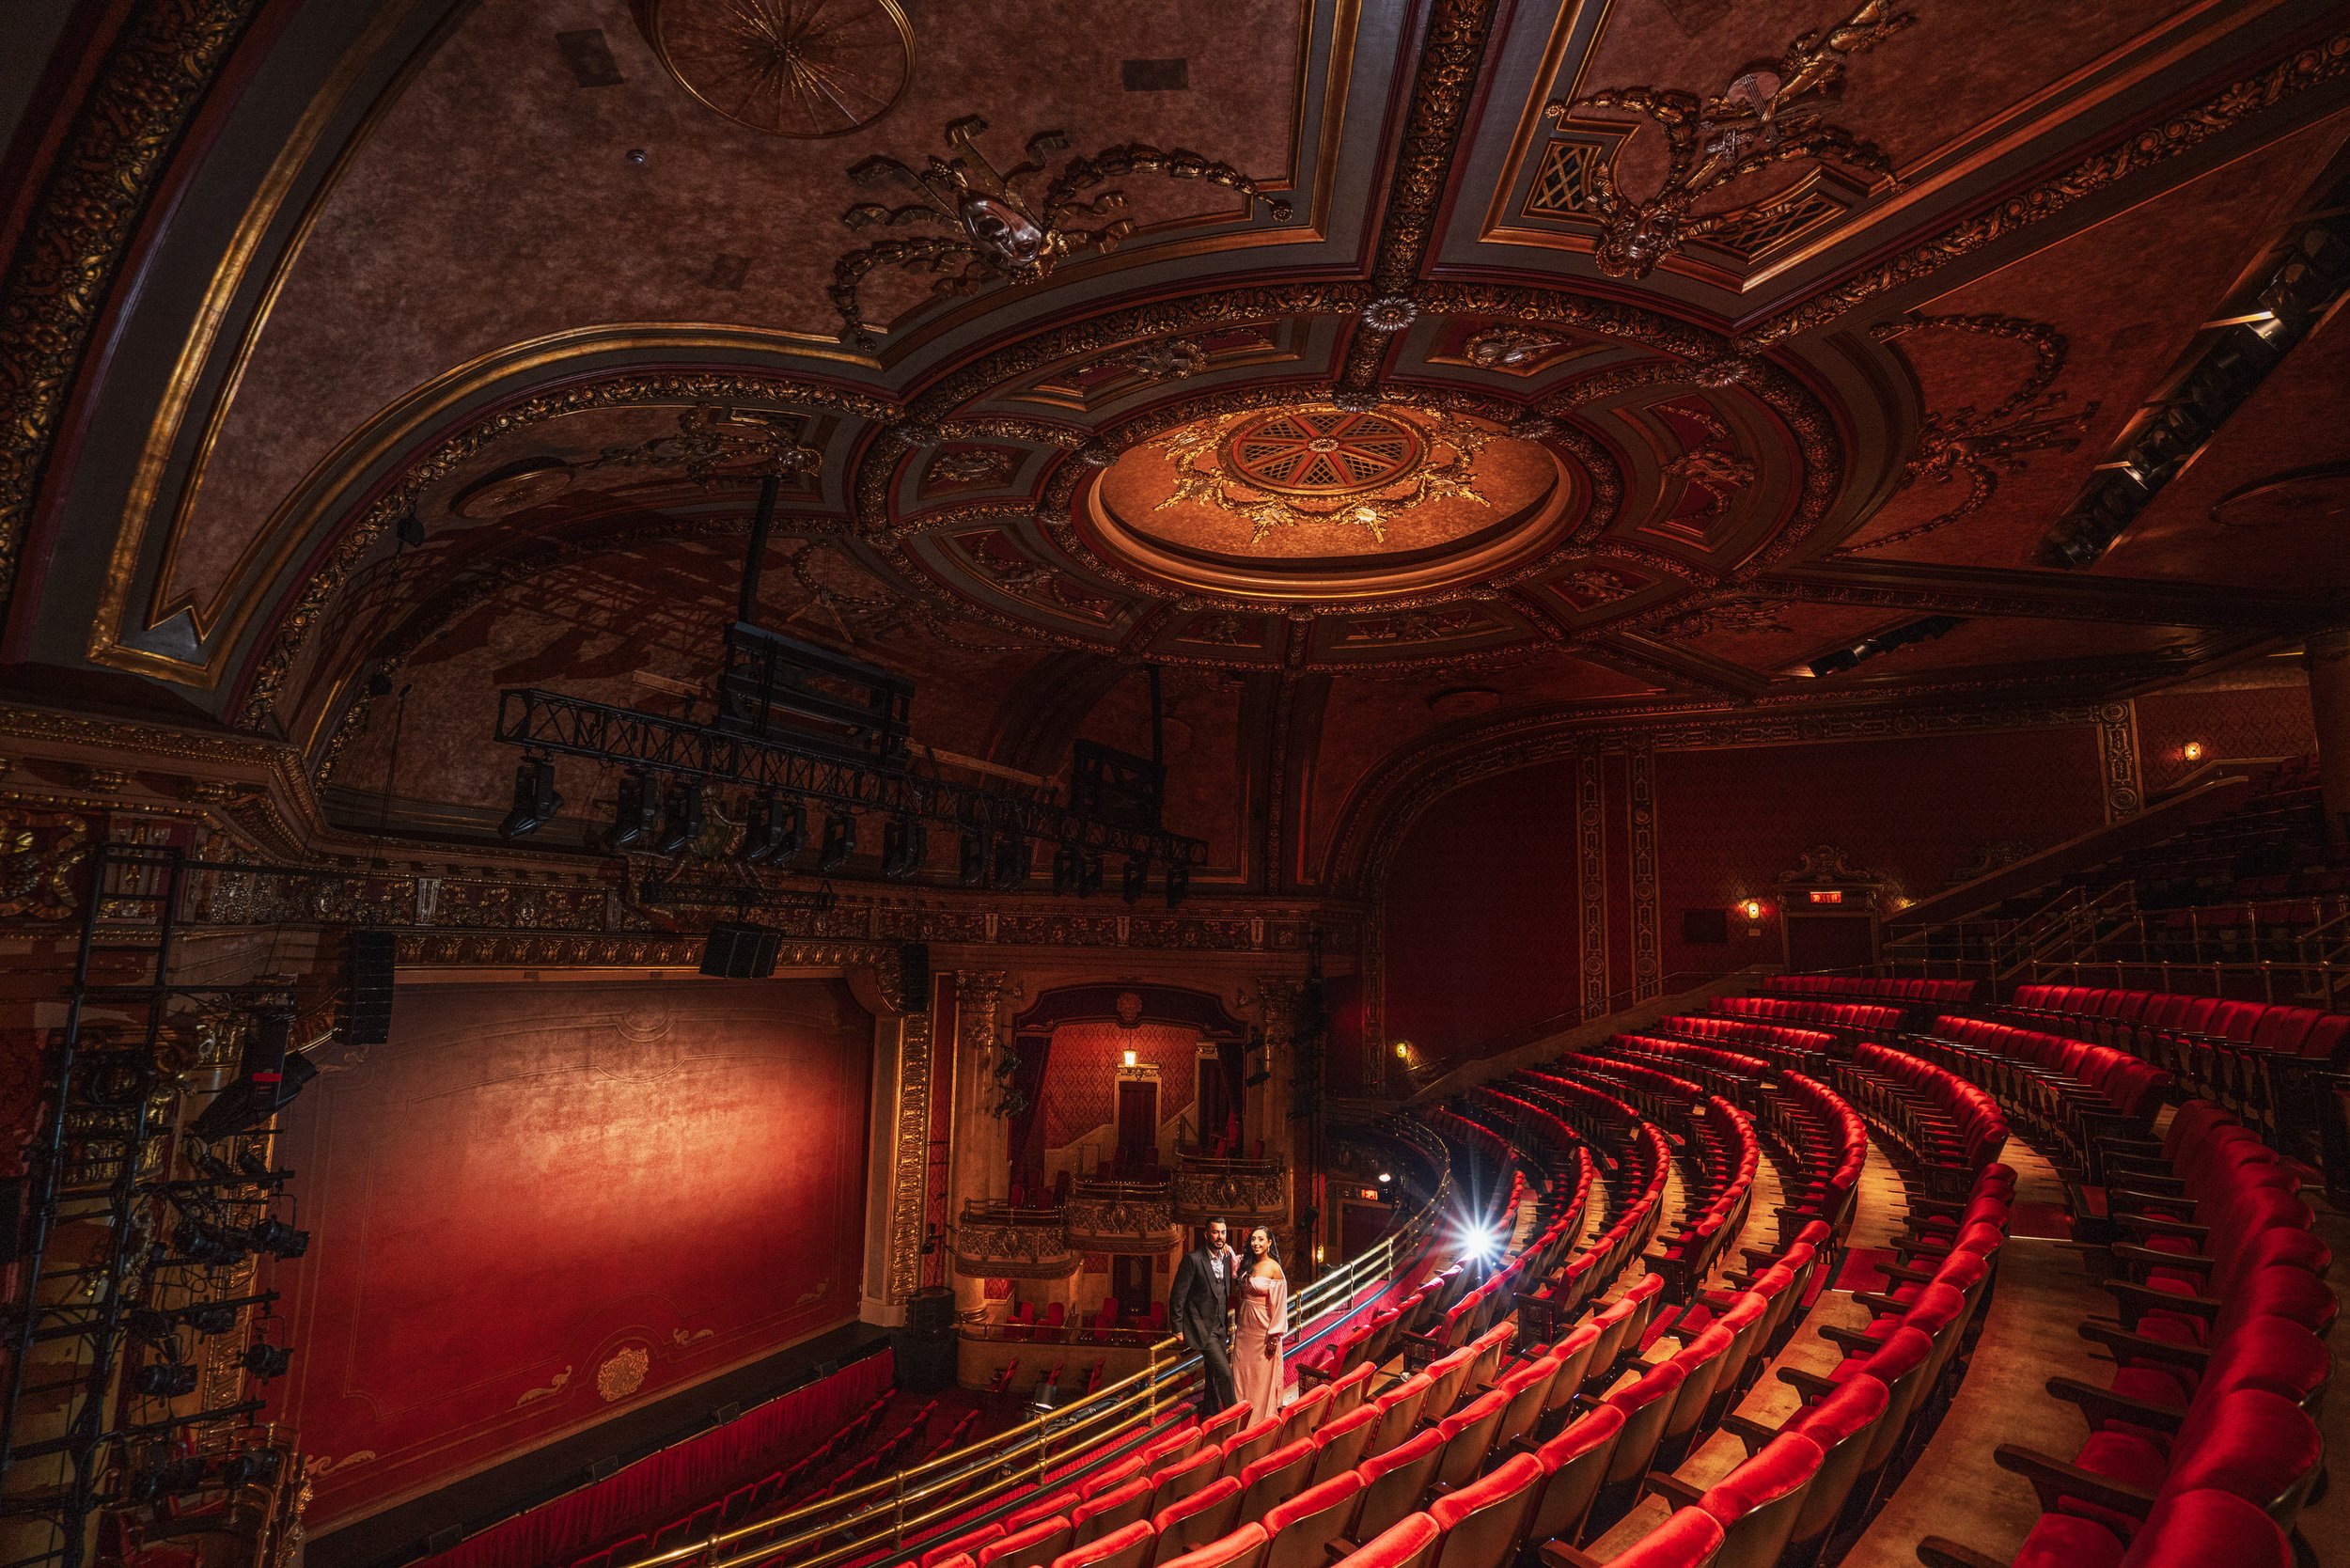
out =
[[14,592],[42,468],[172,150],[261,0],[129,9],[0,280],[0,604]]

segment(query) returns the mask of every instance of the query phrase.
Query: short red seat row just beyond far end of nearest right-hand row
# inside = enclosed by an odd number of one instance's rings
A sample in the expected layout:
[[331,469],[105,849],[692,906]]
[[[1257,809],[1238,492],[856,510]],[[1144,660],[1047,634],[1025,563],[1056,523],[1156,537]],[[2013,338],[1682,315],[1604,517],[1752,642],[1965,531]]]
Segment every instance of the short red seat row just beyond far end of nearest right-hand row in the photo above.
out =
[[2089,1182],[2103,1182],[2099,1138],[2143,1135],[2171,1086],[2171,1074],[2127,1051],[1986,1018],[1943,1013],[1911,1048],[1988,1091]]

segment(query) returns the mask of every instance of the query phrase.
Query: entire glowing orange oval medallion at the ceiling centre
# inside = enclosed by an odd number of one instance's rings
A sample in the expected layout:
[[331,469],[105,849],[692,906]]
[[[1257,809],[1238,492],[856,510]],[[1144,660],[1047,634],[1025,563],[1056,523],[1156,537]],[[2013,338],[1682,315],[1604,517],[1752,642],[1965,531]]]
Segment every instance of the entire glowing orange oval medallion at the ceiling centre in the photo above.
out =
[[1553,545],[1589,487],[1499,425],[1410,404],[1217,414],[1133,447],[1083,496],[1107,557],[1217,597],[1396,597]]

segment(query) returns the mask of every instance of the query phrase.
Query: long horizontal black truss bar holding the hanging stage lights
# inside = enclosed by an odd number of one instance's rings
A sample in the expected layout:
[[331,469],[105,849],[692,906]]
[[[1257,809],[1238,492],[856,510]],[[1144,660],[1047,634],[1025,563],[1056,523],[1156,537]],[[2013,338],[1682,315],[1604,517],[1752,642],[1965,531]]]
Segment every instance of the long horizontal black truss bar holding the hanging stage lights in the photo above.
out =
[[498,741],[533,752],[588,757],[710,783],[773,788],[830,806],[914,816],[954,830],[1013,832],[1088,853],[1119,853],[1163,865],[1206,865],[1208,846],[1177,832],[1119,825],[1048,799],[1008,790],[924,778],[886,764],[851,762],[785,738],[731,733],[611,703],[590,703],[538,686],[498,693]]

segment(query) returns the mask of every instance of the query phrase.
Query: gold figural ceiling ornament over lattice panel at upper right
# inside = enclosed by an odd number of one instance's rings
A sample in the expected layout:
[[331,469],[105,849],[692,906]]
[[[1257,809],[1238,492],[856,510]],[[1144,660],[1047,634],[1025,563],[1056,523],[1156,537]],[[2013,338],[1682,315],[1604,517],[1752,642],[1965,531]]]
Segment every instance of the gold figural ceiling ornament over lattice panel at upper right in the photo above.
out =
[[1746,174],[1812,158],[1892,179],[1885,148],[1861,141],[1826,113],[1842,96],[1845,63],[1866,54],[1915,16],[1892,0],[1866,0],[1845,21],[1802,33],[1777,61],[1746,66],[1706,99],[1678,87],[1603,87],[1544,113],[1563,120],[1579,108],[1647,115],[1664,132],[1666,172],[1654,193],[1626,195],[1612,160],[1593,160],[1586,183],[1600,226],[1598,268],[1610,277],[1647,277],[1690,240],[1716,233],[1748,207],[1692,214],[1697,202]]

